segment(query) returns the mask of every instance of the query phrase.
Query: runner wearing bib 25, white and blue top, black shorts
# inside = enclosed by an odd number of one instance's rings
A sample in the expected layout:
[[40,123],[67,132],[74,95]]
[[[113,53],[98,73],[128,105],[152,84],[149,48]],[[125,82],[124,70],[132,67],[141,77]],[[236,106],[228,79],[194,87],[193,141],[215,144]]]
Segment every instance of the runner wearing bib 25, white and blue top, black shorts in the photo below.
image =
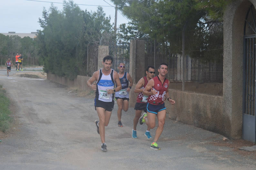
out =
[[[94,107],[99,120],[95,120],[97,133],[101,137],[101,151],[107,152],[105,143],[105,126],[108,126],[111,112],[114,107],[114,93],[122,89],[119,76],[111,69],[113,58],[106,56],[103,58],[103,68],[95,71],[93,76],[87,81],[88,87],[95,90]],[[96,83],[95,83],[96,82]],[[116,88],[114,88],[116,84]]]

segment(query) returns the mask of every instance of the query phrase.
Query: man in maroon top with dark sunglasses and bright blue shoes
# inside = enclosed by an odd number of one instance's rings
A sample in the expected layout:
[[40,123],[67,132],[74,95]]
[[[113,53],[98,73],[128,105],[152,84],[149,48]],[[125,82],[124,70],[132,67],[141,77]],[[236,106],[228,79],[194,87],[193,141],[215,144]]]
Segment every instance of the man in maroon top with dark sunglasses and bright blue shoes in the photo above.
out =
[[[141,117],[141,113],[144,110],[144,114],[146,114],[147,110],[146,110],[146,106],[147,106],[147,98],[148,96],[144,96],[142,94],[143,89],[146,87],[146,85],[148,84],[148,81],[150,79],[152,79],[154,77],[155,74],[155,69],[153,66],[148,66],[146,69],[146,76],[141,78],[138,83],[136,84],[136,87],[134,89],[135,93],[139,93],[138,97],[137,97],[137,102],[135,104],[134,110],[135,110],[135,117],[133,119],[133,133],[132,133],[132,138],[137,138],[137,131],[136,131],[136,127],[138,124],[138,121],[141,120],[143,118],[143,116]],[[141,117],[141,119],[140,119]],[[147,118],[146,118],[147,121]],[[142,125],[143,122],[140,121],[140,124]],[[145,132],[145,136],[147,137],[147,139],[152,139],[152,136],[150,135],[150,127],[147,127],[147,130]]]

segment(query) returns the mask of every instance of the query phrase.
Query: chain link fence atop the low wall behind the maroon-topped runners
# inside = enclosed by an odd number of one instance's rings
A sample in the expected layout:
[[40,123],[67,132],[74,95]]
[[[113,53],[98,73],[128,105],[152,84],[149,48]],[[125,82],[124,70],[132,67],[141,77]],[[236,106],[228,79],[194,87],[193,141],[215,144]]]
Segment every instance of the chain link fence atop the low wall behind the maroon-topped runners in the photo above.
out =
[[173,47],[168,42],[146,41],[145,68],[154,65],[158,74],[157,68],[165,62],[171,89],[222,95],[223,24],[198,26],[185,33],[184,41],[184,59],[182,45]]

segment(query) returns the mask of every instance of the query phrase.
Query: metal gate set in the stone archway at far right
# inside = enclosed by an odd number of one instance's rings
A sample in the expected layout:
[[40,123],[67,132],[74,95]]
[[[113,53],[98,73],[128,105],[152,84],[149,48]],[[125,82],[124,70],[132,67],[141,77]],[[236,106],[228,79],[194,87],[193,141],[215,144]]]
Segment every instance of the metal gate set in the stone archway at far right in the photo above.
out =
[[244,24],[243,55],[243,139],[256,141],[256,22],[255,8],[251,5]]

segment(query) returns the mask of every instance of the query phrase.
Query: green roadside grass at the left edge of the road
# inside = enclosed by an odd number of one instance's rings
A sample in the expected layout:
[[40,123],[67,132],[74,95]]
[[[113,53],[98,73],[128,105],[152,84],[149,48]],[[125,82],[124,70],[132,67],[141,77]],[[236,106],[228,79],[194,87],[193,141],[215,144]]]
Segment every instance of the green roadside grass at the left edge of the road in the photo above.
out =
[[10,127],[12,118],[10,117],[11,111],[9,109],[10,100],[5,96],[5,89],[0,85],[0,130],[6,132]]

